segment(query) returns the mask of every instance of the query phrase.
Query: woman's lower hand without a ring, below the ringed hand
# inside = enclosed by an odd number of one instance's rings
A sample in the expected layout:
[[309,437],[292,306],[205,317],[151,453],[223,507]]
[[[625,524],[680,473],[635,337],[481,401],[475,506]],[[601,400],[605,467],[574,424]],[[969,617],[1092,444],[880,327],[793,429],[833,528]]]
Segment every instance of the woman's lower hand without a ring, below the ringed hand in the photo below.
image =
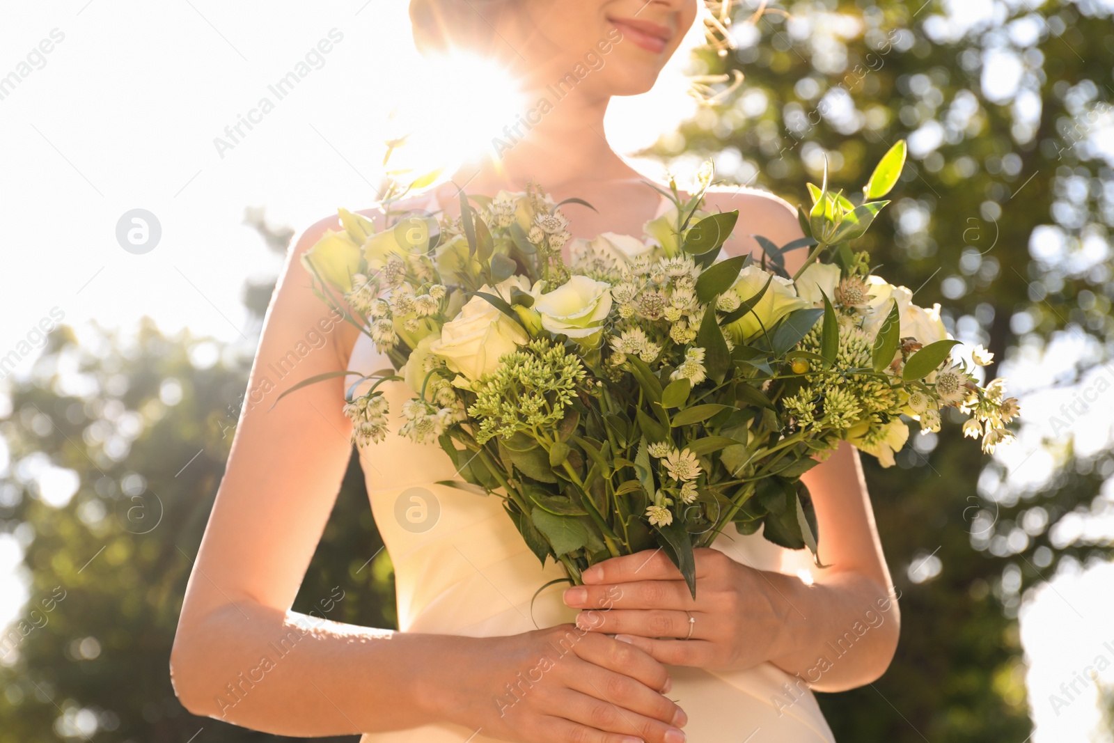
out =
[[668,672],[629,643],[570,624],[469,641],[437,674],[431,714],[522,743],[685,740]]

